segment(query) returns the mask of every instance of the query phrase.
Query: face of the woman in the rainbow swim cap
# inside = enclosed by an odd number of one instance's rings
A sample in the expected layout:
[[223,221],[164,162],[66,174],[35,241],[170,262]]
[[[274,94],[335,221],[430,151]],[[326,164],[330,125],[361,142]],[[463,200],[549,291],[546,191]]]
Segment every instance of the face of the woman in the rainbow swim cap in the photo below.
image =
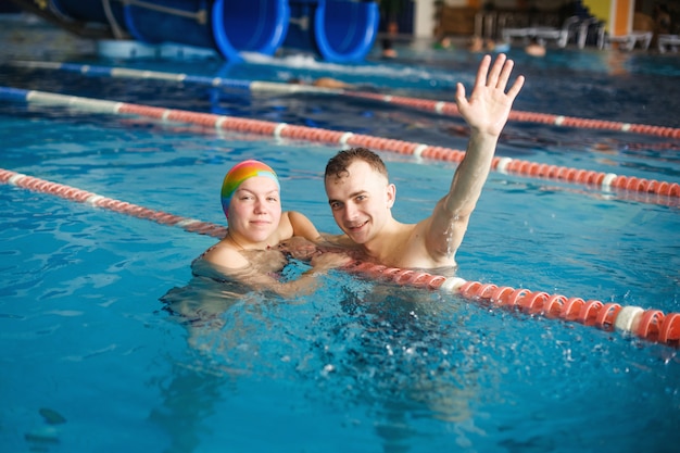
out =
[[229,230],[251,242],[263,242],[278,228],[281,198],[276,181],[265,176],[245,179],[229,203]]

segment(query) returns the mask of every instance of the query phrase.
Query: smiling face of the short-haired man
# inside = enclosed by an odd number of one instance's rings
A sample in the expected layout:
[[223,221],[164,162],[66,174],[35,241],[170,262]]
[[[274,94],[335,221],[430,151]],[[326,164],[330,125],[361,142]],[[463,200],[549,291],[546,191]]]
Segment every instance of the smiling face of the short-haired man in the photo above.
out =
[[336,223],[354,242],[364,244],[380,234],[391,218],[394,186],[364,161],[354,161],[349,174],[326,178],[326,194]]

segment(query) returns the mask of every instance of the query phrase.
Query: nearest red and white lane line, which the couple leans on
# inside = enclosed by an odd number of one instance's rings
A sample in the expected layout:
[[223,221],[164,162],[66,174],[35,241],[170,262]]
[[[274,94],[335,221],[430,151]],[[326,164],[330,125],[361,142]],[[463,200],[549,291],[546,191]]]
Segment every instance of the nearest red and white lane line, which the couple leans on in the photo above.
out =
[[[125,201],[102,197],[83,189],[52,183],[34,176],[0,168],[0,183],[61,197],[65,200],[103,207],[128,216],[178,226],[190,232],[222,239],[226,228],[209,222],[154,211]],[[680,313],[664,314],[660,310],[622,306],[615,302],[567,298],[543,291],[499,287],[493,284],[466,281],[461,277],[444,277],[427,272],[388,267],[366,262],[353,262],[343,270],[377,281],[427,290],[451,292],[484,306],[518,310],[531,316],[544,316],[593,326],[605,331],[617,330],[641,339],[678,348],[680,345]]]

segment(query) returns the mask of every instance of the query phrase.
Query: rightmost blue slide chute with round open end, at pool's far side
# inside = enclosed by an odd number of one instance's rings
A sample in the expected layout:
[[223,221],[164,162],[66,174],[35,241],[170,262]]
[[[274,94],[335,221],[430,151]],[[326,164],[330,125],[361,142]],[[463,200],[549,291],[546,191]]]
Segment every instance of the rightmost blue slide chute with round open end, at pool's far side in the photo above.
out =
[[284,41],[285,48],[313,51],[335,63],[360,62],[373,48],[380,21],[377,2],[289,2],[290,25]]

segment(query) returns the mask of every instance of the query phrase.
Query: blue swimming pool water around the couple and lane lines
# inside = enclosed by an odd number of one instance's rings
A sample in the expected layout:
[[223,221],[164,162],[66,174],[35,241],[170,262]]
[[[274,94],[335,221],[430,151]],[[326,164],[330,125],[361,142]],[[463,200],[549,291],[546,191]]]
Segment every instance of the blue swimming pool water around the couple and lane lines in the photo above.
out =
[[[470,86],[479,58],[399,50],[400,61],[354,66],[295,55],[238,67],[67,61],[277,81],[331,74],[450,101],[455,80]],[[677,56],[511,54],[528,77],[517,110],[680,127]],[[48,56],[40,60],[64,61]],[[370,99],[3,63],[0,85],[17,89],[453,149],[467,140],[455,116]],[[338,144],[64,104],[3,100],[0,115],[1,168],[224,225],[224,173],[256,156],[279,173],[285,209],[338,231],[322,179]],[[678,183],[679,146],[657,135],[511,122],[499,155]],[[381,155],[398,186],[395,216],[428,215],[455,163]],[[256,293],[234,300],[228,288],[191,278],[210,236],[14,185],[0,185],[0,200],[3,451],[675,450],[680,364],[671,345],[343,272],[294,303]],[[679,224],[677,198],[493,172],[458,276],[680,312]],[[161,299],[174,288],[203,298],[223,313],[219,323],[190,326],[165,311]]]

